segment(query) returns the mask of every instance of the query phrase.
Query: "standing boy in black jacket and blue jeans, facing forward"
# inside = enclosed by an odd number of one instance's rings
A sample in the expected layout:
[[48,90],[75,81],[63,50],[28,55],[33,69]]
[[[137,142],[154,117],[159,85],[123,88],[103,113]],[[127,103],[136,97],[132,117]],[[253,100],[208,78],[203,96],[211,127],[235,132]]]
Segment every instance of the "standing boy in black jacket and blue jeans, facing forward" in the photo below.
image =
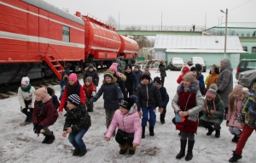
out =
[[144,72],[142,76],[142,83],[137,87],[137,110],[139,115],[142,115],[143,110],[143,134],[145,138],[145,127],[147,126],[148,113],[149,113],[149,135],[154,136],[155,124],[155,108],[158,105],[159,111],[163,111],[163,103],[160,95],[159,88],[156,87],[151,80],[150,73]]

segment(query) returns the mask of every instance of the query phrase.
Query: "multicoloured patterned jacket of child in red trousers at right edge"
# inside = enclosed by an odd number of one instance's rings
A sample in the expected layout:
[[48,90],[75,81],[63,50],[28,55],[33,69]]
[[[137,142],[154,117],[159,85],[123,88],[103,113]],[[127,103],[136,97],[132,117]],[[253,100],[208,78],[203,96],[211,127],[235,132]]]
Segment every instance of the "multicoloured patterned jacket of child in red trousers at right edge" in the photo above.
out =
[[243,100],[241,114],[237,117],[238,122],[245,123],[251,128],[256,128],[256,94],[252,91]]

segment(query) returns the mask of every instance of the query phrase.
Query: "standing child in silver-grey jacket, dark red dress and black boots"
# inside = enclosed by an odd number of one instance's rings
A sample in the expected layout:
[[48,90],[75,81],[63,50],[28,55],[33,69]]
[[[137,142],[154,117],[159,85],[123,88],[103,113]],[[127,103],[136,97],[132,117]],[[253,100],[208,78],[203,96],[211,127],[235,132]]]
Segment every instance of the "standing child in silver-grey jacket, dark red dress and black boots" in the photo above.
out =
[[180,152],[176,159],[181,159],[185,155],[188,143],[188,153],[185,160],[193,158],[193,147],[195,144],[195,132],[198,125],[198,113],[202,110],[204,100],[202,98],[199,82],[196,80],[196,73],[188,72],[183,76],[183,82],[177,87],[177,93],[172,99],[172,108],[175,113],[183,117],[183,122],[176,122],[176,128],[181,132]]

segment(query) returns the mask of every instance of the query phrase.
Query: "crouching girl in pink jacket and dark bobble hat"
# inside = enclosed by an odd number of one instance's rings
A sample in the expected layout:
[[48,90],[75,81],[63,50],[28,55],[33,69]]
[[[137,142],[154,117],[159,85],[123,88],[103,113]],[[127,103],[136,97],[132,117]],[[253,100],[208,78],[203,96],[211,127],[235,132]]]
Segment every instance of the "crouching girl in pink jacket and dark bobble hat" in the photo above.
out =
[[129,155],[133,155],[137,146],[142,139],[141,119],[137,114],[137,96],[131,95],[130,98],[122,99],[119,103],[119,110],[113,115],[105,139],[108,142],[118,126],[119,130],[115,136],[115,140],[119,143],[119,154],[125,155],[129,149]]

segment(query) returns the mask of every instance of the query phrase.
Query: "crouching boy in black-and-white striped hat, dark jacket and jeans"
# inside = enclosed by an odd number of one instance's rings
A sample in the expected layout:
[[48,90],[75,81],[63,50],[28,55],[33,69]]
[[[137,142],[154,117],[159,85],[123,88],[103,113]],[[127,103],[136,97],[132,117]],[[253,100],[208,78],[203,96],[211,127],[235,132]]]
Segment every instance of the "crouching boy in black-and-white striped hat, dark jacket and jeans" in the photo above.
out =
[[84,104],[80,103],[80,98],[77,94],[72,94],[67,98],[67,108],[67,118],[62,136],[67,137],[67,133],[69,133],[68,140],[75,148],[73,155],[83,156],[87,153],[83,137],[91,125],[90,115],[86,111]]

